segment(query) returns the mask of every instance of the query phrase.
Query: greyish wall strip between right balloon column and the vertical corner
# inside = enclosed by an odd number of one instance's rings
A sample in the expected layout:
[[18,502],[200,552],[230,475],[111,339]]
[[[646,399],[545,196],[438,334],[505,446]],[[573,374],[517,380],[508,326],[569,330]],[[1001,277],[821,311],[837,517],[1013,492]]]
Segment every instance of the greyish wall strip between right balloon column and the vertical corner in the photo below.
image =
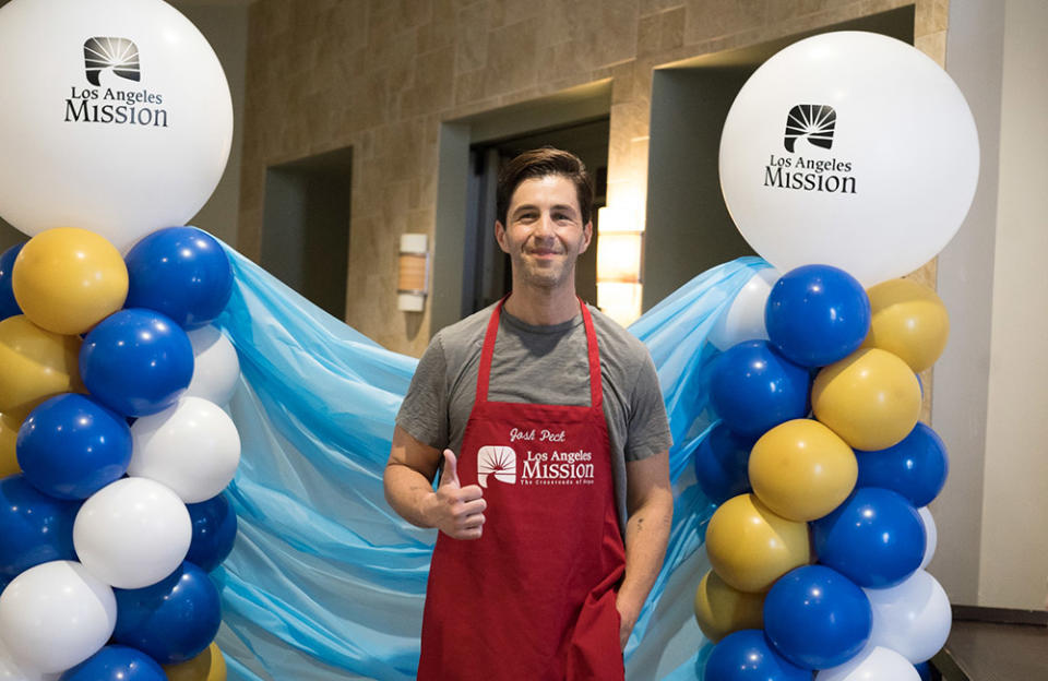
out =
[[928,570],[951,601],[965,605],[978,602],[1003,7],[998,0],[951,2],[946,34],[946,72],[975,116],[981,168],[967,219],[939,255],[939,296],[950,312],[951,331],[946,349],[936,362],[931,425],[950,453],[950,477],[931,504],[939,545]]

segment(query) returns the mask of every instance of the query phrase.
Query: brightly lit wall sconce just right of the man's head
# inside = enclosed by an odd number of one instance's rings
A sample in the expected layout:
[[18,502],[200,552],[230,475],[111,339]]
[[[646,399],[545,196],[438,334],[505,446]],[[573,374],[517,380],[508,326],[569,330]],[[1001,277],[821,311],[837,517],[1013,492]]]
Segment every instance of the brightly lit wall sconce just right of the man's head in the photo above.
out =
[[644,231],[605,206],[597,214],[597,306],[628,326],[641,315]]

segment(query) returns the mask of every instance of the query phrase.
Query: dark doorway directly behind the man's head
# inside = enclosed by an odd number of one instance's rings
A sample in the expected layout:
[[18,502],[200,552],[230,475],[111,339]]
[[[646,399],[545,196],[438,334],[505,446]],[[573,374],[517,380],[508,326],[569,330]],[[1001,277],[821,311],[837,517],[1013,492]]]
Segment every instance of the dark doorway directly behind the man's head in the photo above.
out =
[[594,180],[594,240],[579,259],[575,289],[586,302],[597,302],[597,208],[607,203],[607,117],[469,147],[468,207],[463,258],[463,316],[500,299],[511,287],[510,256],[495,240],[495,190],[499,171],[514,156],[549,145],[572,152],[586,165]]

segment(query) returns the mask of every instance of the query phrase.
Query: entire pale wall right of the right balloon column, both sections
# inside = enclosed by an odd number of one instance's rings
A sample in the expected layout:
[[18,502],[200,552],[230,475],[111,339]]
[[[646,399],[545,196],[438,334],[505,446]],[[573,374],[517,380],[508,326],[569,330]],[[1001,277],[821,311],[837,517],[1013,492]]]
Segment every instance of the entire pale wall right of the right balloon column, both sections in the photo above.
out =
[[957,604],[1041,608],[1048,577],[1048,4],[953,0],[946,71],[979,129],[979,187],[939,258],[951,336],[932,425],[950,478],[929,570]]

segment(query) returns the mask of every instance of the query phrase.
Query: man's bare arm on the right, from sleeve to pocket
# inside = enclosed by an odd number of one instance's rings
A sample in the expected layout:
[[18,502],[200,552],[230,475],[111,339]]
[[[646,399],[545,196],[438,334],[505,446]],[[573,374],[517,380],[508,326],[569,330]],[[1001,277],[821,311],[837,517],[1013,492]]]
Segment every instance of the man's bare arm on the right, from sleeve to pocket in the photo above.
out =
[[626,576],[615,604],[622,619],[619,637],[623,648],[663,566],[669,542],[674,517],[669,453],[627,462],[626,479],[629,517],[626,523]]

